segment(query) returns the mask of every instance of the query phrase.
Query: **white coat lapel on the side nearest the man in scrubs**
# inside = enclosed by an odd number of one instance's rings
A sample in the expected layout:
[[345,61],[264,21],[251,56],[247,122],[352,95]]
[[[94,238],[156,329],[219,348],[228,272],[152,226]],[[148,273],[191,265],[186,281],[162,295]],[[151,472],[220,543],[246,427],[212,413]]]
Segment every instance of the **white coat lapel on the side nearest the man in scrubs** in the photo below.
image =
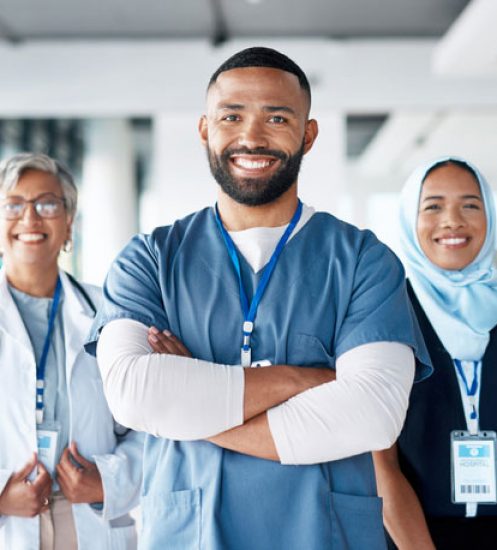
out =
[[90,332],[93,316],[63,271],[60,272],[60,279],[64,290],[62,320],[66,347],[66,377],[69,383],[76,358],[79,353],[84,353],[83,344]]

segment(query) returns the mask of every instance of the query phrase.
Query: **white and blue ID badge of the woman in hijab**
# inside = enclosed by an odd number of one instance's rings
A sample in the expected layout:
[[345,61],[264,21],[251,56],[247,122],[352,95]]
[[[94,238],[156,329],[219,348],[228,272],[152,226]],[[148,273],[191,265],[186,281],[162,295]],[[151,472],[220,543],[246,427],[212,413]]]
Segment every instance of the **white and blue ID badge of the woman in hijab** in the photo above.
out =
[[496,433],[467,431],[450,434],[452,502],[495,504]]

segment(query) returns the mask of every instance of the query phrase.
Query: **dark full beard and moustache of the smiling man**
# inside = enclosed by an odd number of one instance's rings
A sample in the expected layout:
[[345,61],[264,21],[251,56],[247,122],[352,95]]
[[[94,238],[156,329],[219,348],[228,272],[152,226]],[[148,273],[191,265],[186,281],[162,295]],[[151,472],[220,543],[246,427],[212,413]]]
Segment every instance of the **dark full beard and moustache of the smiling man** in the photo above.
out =
[[[234,154],[264,155],[277,158],[281,166],[269,178],[236,178],[230,171],[230,157]],[[221,189],[234,201],[247,206],[268,204],[281,197],[297,181],[304,156],[304,142],[293,155],[286,155],[273,149],[227,149],[222,155],[215,155],[207,145],[207,157],[214,179]]]

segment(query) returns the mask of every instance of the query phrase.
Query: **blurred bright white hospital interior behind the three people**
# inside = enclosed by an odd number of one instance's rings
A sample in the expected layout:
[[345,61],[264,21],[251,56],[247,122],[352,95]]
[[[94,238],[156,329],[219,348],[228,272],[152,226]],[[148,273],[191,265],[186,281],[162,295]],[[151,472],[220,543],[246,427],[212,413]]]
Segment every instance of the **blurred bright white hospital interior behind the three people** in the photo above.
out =
[[497,186],[495,0],[3,0],[0,157],[48,153],[80,190],[64,266],[101,284],[137,231],[213,204],[197,137],[211,73],[295,59],[320,136],[300,196],[397,248],[398,192],[437,155]]

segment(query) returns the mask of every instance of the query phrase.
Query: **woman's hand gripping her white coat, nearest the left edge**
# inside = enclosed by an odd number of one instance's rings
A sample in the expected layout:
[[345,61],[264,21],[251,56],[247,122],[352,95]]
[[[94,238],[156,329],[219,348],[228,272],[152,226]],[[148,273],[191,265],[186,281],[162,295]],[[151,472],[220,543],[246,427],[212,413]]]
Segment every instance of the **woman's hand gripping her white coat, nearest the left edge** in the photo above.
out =
[[[28,476],[36,466],[38,473],[34,481],[30,481]],[[52,478],[33,453],[31,459],[11,475],[0,494],[0,514],[28,518],[37,516],[48,510],[51,493]]]

